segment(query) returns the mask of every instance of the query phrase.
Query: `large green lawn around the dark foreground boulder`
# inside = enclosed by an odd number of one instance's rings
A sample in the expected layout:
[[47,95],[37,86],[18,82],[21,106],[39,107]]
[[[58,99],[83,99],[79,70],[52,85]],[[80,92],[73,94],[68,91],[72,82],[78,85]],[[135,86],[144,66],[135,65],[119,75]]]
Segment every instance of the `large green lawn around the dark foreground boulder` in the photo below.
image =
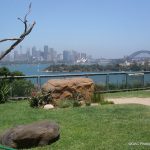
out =
[[149,146],[129,146],[129,142],[150,142],[150,107],[103,105],[54,110],[33,109],[27,101],[0,105],[0,132],[39,120],[60,125],[56,143],[33,150],[141,150]]

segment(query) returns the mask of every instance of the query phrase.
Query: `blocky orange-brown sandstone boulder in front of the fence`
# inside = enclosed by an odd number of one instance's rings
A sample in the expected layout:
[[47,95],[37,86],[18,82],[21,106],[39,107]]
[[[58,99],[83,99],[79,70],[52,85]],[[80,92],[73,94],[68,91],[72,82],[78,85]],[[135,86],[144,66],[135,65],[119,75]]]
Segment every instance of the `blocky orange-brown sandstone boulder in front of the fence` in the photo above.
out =
[[89,78],[51,79],[42,86],[42,92],[51,93],[54,105],[64,99],[89,102],[94,92],[94,83]]

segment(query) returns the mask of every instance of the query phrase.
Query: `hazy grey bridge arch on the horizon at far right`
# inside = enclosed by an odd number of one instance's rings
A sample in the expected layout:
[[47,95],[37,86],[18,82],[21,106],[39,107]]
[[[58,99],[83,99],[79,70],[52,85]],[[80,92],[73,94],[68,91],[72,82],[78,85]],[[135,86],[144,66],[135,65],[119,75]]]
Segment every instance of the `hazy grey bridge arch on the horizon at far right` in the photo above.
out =
[[150,60],[149,50],[139,50],[126,57],[126,60]]

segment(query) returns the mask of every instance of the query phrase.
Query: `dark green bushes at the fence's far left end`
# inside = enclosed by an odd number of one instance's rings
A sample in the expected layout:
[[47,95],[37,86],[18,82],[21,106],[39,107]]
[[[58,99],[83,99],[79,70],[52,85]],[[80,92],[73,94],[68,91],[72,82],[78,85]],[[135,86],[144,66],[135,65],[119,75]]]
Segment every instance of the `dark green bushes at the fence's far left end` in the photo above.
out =
[[[11,72],[6,67],[0,68],[0,76],[23,76],[24,74],[19,71]],[[6,99],[9,96],[30,96],[31,90],[34,88],[34,85],[29,80],[25,79],[1,79],[0,81],[0,89],[1,89],[1,97],[5,97]],[[3,99],[3,101],[4,101]],[[2,101],[2,100],[1,100]]]

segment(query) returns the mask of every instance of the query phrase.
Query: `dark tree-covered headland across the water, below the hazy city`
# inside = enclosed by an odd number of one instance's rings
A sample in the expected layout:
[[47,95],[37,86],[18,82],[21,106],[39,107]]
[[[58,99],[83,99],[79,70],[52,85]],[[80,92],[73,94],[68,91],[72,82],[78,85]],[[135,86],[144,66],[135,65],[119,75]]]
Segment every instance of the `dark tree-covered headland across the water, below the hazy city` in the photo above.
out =
[[148,64],[140,65],[136,62],[130,66],[121,66],[119,64],[109,64],[102,66],[99,64],[93,65],[50,65],[44,71],[50,72],[102,72],[102,71],[149,71],[150,66]]

